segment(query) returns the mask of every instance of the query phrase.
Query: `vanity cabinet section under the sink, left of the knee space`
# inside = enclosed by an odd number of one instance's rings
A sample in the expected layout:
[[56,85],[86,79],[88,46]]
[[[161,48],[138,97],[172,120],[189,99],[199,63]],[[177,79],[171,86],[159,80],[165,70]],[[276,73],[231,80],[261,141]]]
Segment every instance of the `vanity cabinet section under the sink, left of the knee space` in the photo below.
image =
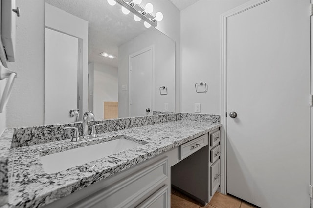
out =
[[46,208],[170,208],[168,157],[160,155],[61,198]]

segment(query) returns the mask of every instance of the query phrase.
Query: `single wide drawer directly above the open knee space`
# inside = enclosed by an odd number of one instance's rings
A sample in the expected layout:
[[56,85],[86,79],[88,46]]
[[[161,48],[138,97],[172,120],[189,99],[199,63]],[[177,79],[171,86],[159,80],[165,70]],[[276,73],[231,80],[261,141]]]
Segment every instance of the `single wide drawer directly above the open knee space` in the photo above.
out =
[[182,160],[208,144],[208,134],[204,134],[179,146],[179,160]]

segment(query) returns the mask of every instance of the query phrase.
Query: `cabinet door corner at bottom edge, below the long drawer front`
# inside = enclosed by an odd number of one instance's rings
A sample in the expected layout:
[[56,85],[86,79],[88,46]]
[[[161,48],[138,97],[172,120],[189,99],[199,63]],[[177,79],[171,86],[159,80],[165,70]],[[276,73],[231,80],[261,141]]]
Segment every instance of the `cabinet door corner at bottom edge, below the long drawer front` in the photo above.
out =
[[169,187],[165,185],[152,194],[148,199],[138,205],[136,208],[168,208],[167,196]]

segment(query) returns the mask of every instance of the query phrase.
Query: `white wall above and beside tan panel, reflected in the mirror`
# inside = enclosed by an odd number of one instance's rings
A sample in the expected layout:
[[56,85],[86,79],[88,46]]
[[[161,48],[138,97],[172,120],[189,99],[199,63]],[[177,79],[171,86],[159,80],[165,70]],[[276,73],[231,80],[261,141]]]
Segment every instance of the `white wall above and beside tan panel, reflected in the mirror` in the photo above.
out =
[[118,101],[118,69],[94,62],[93,113],[97,120],[104,119],[103,101]]

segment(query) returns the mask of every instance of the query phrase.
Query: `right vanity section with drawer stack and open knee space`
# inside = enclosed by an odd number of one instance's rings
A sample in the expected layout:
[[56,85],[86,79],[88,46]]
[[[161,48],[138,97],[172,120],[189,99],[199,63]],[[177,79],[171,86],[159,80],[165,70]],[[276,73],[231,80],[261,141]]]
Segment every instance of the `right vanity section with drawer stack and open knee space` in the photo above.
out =
[[215,129],[179,146],[179,161],[171,167],[174,188],[205,205],[220,187],[221,132]]

